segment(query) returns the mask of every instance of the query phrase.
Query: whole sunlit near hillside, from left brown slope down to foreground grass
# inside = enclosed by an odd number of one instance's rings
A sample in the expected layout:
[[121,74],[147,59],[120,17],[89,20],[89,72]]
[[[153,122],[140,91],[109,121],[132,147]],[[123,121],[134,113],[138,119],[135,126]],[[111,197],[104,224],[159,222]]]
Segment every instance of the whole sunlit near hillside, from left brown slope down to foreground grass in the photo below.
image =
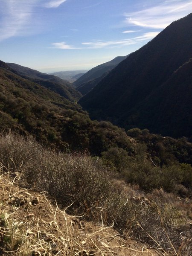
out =
[[192,143],[128,134],[0,61],[0,255],[191,255]]

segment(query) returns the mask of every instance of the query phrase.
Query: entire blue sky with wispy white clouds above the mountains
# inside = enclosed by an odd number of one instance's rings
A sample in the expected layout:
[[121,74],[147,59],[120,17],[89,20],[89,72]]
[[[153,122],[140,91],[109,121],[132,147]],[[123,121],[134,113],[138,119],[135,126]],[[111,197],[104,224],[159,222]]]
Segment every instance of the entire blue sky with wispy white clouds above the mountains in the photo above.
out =
[[0,0],[0,60],[46,73],[89,70],[190,12],[192,0]]

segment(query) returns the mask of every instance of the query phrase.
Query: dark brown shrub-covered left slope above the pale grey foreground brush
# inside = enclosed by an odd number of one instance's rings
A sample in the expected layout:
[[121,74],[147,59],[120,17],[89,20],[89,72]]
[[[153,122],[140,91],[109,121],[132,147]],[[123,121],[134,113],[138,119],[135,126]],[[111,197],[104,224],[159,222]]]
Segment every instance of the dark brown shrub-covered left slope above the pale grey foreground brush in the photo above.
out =
[[66,151],[101,155],[111,147],[131,152],[129,137],[109,122],[91,121],[76,102],[24,78],[0,61],[0,132],[17,131]]

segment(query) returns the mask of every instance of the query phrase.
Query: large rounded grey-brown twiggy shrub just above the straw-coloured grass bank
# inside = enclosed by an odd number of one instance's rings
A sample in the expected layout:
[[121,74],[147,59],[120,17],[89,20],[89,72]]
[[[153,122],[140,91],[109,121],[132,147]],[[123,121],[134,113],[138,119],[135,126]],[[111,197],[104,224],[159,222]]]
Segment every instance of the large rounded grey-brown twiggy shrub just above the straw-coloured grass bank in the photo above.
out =
[[27,177],[64,206],[73,204],[78,213],[101,206],[111,191],[108,173],[86,154],[47,152],[35,170],[32,166]]

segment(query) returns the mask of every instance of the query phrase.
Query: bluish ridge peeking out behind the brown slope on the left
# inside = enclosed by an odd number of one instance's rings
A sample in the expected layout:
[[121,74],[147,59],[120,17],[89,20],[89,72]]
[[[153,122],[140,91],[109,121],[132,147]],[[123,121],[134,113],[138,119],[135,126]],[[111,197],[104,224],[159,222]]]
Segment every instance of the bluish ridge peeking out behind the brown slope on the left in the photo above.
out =
[[23,78],[41,84],[55,93],[59,93],[61,96],[69,99],[70,101],[76,101],[81,97],[81,93],[74,89],[73,84],[62,80],[57,76],[41,73],[37,70],[30,69],[29,67],[23,67],[15,63],[7,63],[7,65],[14,70],[16,74],[22,76]]

